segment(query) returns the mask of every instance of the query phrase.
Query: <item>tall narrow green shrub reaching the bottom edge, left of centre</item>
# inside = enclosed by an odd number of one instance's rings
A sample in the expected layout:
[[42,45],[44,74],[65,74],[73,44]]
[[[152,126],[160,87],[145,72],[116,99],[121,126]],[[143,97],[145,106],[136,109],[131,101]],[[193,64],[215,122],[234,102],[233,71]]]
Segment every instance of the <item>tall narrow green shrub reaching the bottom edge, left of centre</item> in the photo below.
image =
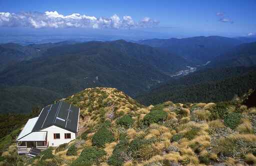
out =
[[115,145],[112,155],[108,158],[107,163],[109,165],[123,165],[124,157],[127,153],[128,140],[126,135],[120,135],[120,141]]

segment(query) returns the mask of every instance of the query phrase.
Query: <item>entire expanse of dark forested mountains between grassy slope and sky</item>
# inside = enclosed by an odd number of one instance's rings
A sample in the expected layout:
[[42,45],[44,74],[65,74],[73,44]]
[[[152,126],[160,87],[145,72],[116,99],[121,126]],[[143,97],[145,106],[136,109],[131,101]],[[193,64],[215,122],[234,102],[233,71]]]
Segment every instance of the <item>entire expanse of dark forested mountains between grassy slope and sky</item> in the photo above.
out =
[[[0,112],[29,112],[96,86],[118,88],[144,104],[225,100],[255,86],[255,43],[221,36],[137,42],[0,44]],[[182,72],[189,74],[173,76]]]

